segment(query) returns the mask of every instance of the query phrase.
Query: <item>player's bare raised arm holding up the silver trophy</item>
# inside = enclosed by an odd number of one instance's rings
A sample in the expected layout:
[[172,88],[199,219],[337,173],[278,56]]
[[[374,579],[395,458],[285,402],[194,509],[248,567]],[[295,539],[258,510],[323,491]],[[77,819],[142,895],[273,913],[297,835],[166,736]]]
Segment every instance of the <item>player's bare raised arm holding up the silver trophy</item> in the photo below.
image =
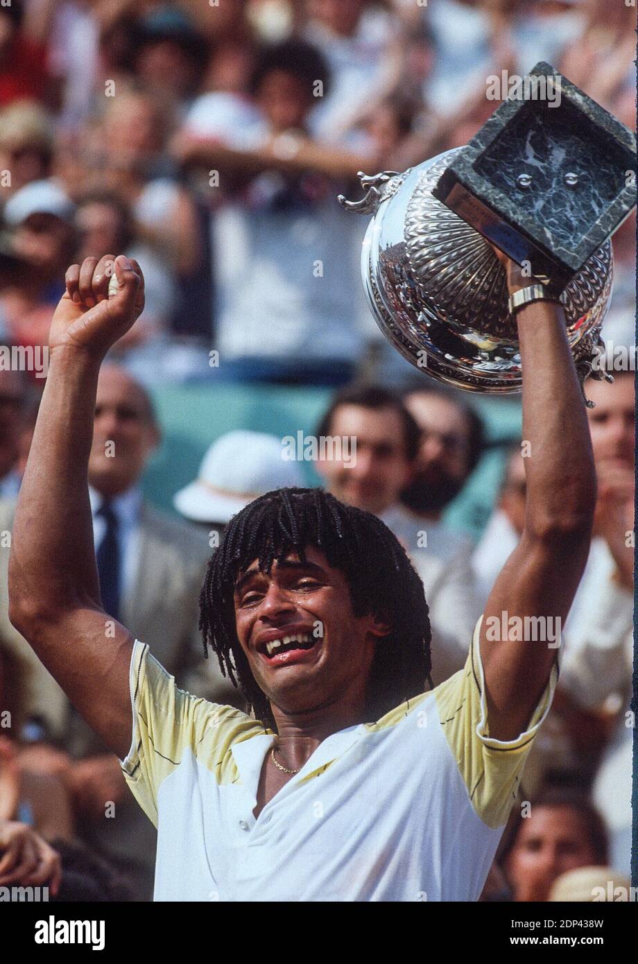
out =
[[[518,265],[502,260],[510,293],[530,284]],[[490,736],[503,740],[524,730],[548,681],[587,562],[596,505],[587,415],[563,309],[534,302],[518,309],[517,321],[525,524],[494,583],[480,643]]]

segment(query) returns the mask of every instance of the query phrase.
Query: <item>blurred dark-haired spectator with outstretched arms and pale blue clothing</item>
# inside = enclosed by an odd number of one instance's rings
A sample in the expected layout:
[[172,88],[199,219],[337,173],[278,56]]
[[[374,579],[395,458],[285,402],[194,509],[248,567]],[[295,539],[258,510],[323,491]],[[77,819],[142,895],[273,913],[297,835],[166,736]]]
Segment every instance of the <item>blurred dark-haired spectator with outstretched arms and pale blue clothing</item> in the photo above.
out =
[[222,378],[339,385],[363,349],[364,225],[335,203],[329,175],[355,174],[365,162],[308,137],[319,81],[328,90],[313,47],[268,47],[253,72],[253,104],[206,94],[173,145],[230,191],[213,218]]

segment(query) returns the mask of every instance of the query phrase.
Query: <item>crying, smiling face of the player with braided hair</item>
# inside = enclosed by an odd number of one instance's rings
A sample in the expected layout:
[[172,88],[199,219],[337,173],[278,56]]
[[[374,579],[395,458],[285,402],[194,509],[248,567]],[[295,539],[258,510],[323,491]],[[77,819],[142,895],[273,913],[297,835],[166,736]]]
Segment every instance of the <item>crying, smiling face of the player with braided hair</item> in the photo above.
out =
[[[378,636],[375,617],[355,616],[343,574],[308,547],[260,573],[257,560],[234,592],[237,637],[260,689],[284,712],[362,706]],[[383,644],[382,644],[383,645]]]

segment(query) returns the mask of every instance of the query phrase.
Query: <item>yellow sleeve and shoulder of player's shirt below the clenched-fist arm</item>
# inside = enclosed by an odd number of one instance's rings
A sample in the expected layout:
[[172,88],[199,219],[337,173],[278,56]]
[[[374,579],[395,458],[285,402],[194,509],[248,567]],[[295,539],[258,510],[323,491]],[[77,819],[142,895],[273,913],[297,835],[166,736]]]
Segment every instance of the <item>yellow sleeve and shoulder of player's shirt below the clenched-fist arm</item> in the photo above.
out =
[[218,783],[230,783],[238,776],[232,744],[264,733],[263,726],[241,710],[178,689],[139,640],[131,657],[130,690],[133,736],[120,763],[126,783],[155,826],[158,790],[186,750],[214,773]]

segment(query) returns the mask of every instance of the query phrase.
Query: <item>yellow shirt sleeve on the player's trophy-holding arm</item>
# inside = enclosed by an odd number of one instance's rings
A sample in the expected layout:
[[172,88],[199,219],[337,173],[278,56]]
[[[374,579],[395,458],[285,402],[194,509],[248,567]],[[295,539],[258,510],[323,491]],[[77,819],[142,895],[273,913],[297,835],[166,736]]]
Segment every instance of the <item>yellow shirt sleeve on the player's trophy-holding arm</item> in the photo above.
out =
[[439,719],[454,754],[472,806],[483,822],[496,829],[507,822],[516,800],[523,767],[534,737],[551,706],[558,681],[556,664],[527,729],[513,740],[489,735],[479,633],[474,629],[465,668],[435,690]]

